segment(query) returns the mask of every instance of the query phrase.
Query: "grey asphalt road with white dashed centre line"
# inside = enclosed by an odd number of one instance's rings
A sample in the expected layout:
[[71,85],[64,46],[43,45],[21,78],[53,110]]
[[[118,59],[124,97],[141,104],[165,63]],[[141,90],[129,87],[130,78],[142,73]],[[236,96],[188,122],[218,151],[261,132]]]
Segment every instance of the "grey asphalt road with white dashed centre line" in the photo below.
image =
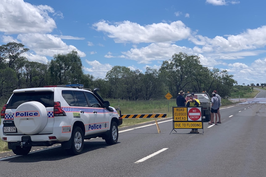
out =
[[67,155],[60,146],[25,156],[3,153],[1,176],[266,176],[265,96],[222,108],[222,123],[204,122],[200,134],[172,131],[172,119],[164,119],[158,120],[160,134],[154,123],[123,128],[117,144],[90,139],[81,155]]

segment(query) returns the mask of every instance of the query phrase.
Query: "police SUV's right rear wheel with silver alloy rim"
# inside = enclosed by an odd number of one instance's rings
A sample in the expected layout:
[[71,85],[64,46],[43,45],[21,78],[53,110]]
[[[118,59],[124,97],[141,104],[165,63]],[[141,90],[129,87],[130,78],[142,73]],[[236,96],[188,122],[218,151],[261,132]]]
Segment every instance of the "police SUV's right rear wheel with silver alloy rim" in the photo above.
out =
[[71,148],[67,152],[71,155],[81,154],[84,147],[84,133],[80,127],[74,127],[71,135]]

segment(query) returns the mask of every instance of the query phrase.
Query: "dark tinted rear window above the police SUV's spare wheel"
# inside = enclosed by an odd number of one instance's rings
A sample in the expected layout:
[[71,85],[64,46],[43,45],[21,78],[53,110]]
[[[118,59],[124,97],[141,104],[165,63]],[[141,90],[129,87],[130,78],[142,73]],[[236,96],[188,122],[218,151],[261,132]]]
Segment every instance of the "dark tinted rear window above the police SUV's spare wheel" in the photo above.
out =
[[6,109],[16,109],[19,105],[29,101],[37,101],[42,103],[45,107],[54,106],[54,92],[52,91],[38,91],[38,92],[21,92],[14,93]]

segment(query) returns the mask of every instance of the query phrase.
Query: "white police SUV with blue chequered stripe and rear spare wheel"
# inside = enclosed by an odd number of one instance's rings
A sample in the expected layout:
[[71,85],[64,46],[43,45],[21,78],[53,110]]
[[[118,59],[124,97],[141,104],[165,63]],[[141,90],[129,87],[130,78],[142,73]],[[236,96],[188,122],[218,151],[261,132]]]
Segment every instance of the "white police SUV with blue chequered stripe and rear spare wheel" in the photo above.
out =
[[115,144],[122,118],[97,91],[82,84],[14,90],[1,111],[0,137],[17,155],[55,143],[78,155],[84,139],[96,137]]

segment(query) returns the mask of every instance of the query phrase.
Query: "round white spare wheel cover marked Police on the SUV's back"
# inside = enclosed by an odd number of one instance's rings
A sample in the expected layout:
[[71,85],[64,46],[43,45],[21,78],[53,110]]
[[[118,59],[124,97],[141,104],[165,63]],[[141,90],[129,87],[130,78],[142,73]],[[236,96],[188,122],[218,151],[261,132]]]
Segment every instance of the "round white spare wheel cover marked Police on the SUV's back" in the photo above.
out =
[[30,101],[19,105],[15,112],[14,123],[18,132],[33,135],[41,132],[48,122],[46,108],[42,103]]

